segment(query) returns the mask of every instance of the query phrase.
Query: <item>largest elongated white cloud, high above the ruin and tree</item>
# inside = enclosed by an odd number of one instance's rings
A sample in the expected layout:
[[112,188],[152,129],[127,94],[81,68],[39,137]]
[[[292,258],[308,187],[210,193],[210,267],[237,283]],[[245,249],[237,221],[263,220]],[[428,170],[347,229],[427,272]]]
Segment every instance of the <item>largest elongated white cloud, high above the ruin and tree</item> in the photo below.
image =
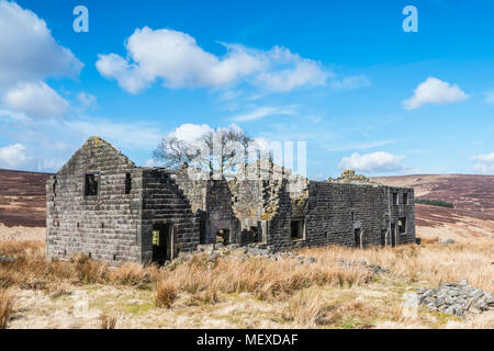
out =
[[274,91],[325,84],[328,73],[311,59],[274,46],[268,52],[224,44],[218,57],[202,49],[195,38],[173,30],[137,29],[126,42],[127,57],[99,55],[100,73],[130,93],[161,80],[170,89],[227,88],[240,80]]

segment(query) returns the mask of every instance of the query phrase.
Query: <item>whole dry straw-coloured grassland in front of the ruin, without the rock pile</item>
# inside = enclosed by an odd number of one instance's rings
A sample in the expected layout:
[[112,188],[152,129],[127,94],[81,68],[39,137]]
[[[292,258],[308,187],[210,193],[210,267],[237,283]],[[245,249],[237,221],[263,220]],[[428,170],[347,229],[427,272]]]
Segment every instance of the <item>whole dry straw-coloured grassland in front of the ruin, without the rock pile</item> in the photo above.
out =
[[112,269],[46,262],[42,241],[0,241],[15,259],[0,262],[0,328],[494,328],[492,312],[459,319],[407,304],[418,287],[462,279],[493,292],[492,242],[296,252],[313,263],[226,251]]

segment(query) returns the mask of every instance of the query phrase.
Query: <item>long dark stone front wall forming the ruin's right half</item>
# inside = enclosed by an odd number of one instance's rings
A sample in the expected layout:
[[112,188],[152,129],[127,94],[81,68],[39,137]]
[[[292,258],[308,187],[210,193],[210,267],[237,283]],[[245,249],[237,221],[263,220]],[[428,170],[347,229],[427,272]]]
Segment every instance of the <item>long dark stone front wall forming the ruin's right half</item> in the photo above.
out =
[[[400,204],[392,204],[396,192]],[[403,194],[407,204],[403,204]],[[287,189],[279,196],[278,211],[268,223],[268,245],[274,249],[329,244],[355,247],[392,245],[391,224],[395,224],[395,245],[415,241],[414,196],[412,189],[383,185],[308,183],[304,199],[290,196]],[[390,216],[391,213],[391,216]],[[391,220],[390,220],[391,218]],[[397,220],[406,218],[406,230],[397,233]],[[303,238],[291,238],[294,220],[303,223]],[[359,241],[356,241],[356,230]]]

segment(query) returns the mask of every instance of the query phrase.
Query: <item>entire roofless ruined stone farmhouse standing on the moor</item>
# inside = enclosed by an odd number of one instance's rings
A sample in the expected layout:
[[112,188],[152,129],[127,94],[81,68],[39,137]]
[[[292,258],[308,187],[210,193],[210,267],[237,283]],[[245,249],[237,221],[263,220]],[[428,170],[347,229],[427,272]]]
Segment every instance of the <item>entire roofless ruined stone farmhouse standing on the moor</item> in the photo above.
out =
[[415,241],[412,189],[312,181],[260,160],[240,173],[250,177],[136,167],[91,137],[47,181],[47,257],[162,263],[207,244],[281,250]]

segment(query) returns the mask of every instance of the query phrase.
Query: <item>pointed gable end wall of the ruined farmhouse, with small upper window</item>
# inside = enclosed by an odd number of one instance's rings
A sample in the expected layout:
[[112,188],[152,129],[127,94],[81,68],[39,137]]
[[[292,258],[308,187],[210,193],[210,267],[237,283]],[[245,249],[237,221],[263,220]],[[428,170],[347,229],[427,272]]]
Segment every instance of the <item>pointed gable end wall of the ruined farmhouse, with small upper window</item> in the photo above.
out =
[[[94,173],[98,195],[85,196],[86,174]],[[128,158],[100,138],[88,139],[46,184],[47,258],[83,253],[115,264],[139,262],[141,184],[141,170]]]

